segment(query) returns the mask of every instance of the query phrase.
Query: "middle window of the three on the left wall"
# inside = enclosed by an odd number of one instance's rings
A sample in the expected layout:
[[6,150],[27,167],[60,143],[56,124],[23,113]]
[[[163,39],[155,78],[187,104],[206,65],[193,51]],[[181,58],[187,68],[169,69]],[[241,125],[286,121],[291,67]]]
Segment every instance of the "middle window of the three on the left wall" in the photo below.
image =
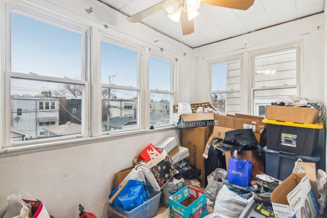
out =
[[[116,44],[115,44],[116,43]],[[139,129],[138,62],[135,47],[101,41],[102,130]]]

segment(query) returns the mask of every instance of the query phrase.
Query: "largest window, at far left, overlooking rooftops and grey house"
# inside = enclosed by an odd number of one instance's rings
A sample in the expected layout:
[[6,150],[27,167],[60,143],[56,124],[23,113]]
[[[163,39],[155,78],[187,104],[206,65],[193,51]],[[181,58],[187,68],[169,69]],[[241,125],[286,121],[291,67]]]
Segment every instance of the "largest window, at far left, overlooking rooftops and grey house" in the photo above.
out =
[[[11,93],[6,114],[15,120],[11,122],[12,131],[24,133],[27,136],[24,143],[85,134],[87,119],[82,105],[86,101],[87,82],[82,72],[88,29],[61,19],[53,22],[56,16],[41,10],[33,14],[23,7],[6,7],[10,18],[6,20],[6,30],[11,30],[6,32],[10,45],[6,55],[11,57],[7,58],[5,72],[10,80],[6,89]],[[67,103],[72,99],[79,102],[79,115],[69,113]],[[19,119],[14,113],[18,109]],[[15,142],[11,140],[12,144]],[[5,147],[8,146],[11,144]]]

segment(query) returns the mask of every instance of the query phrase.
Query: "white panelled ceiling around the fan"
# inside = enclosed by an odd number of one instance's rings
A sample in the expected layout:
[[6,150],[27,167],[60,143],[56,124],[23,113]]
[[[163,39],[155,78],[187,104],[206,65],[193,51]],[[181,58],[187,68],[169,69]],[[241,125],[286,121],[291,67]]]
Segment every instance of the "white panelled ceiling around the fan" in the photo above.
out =
[[[162,0],[98,0],[131,16]],[[228,0],[226,0],[228,1]],[[201,4],[194,19],[195,32],[183,35],[180,23],[168,18],[166,10],[141,20],[146,26],[190,47],[217,42],[263,28],[321,13],[325,0],[254,0],[246,11]]]

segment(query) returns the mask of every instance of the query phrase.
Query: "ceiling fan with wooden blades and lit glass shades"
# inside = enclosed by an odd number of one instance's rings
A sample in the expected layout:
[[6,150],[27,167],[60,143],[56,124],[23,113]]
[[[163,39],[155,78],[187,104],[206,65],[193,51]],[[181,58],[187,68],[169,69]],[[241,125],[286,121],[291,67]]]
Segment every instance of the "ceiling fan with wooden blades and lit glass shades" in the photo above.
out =
[[171,20],[181,22],[183,35],[188,35],[194,32],[193,19],[200,14],[197,11],[200,4],[247,10],[253,5],[253,2],[254,0],[167,0],[138,12],[128,17],[127,20],[138,22],[161,9],[165,9]]

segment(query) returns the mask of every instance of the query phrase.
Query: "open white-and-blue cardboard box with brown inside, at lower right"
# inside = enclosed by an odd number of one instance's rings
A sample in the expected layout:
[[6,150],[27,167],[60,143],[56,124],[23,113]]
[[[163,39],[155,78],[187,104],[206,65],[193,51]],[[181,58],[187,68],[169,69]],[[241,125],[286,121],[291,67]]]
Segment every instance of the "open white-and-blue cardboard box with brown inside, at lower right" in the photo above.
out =
[[271,192],[275,217],[320,217],[308,175],[294,173]]

